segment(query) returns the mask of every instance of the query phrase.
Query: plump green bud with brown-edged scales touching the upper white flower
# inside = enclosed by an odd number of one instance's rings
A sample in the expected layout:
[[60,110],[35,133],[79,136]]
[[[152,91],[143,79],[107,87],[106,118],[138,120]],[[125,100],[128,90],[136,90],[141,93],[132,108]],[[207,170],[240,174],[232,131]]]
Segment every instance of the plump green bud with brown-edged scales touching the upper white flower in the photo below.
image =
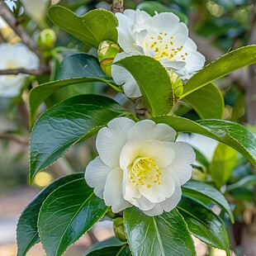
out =
[[121,48],[111,40],[104,40],[101,42],[97,49],[97,58],[101,64],[102,70],[110,78],[111,76],[111,63],[118,53],[121,52]]

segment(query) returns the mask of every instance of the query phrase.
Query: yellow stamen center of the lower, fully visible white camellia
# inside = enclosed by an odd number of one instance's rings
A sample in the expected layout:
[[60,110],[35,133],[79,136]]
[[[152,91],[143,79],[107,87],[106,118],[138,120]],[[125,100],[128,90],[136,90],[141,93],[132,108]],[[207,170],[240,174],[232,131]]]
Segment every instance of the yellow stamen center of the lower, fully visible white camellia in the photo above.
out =
[[129,178],[136,186],[143,185],[151,187],[153,183],[161,185],[160,172],[158,166],[152,158],[135,159],[129,170]]

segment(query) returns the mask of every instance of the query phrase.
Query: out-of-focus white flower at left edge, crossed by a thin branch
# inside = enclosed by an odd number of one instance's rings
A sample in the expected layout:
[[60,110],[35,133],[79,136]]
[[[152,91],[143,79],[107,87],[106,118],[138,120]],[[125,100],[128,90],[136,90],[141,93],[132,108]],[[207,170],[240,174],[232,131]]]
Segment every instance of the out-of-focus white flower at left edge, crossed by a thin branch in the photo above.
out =
[[[38,69],[40,60],[26,45],[0,44],[0,69]],[[16,97],[26,82],[27,75],[0,75],[0,97]]]

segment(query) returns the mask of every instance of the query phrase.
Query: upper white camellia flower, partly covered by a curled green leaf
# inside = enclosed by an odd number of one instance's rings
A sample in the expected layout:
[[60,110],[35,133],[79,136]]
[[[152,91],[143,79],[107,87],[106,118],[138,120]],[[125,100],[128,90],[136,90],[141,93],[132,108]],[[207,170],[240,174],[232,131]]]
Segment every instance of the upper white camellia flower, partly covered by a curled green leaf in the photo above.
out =
[[[192,77],[203,67],[205,57],[188,37],[187,26],[172,12],[151,17],[140,10],[126,10],[116,13],[116,17],[118,44],[123,52],[116,55],[114,62],[130,55],[149,55],[182,79]],[[127,97],[141,96],[140,88],[126,69],[113,65],[111,74],[117,84],[123,85]]]

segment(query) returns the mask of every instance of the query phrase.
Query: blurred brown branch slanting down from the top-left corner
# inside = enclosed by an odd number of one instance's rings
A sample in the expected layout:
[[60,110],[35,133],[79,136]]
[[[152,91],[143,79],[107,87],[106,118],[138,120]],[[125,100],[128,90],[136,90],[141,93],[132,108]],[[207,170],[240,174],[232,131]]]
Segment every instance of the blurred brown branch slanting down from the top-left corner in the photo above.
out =
[[11,10],[7,7],[4,2],[1,2],[0,5],[0,16],[7,22],[9,26],[12,27],[12,30],[15,31],[17,36],[21,37],[22,43],[28,46],[30,50],[36,53],[40,57],[39,52],[36,50],[36,43],[31,39],[31,36],[27,35],[24,28],[17,23],[16,18],[13,16]]

